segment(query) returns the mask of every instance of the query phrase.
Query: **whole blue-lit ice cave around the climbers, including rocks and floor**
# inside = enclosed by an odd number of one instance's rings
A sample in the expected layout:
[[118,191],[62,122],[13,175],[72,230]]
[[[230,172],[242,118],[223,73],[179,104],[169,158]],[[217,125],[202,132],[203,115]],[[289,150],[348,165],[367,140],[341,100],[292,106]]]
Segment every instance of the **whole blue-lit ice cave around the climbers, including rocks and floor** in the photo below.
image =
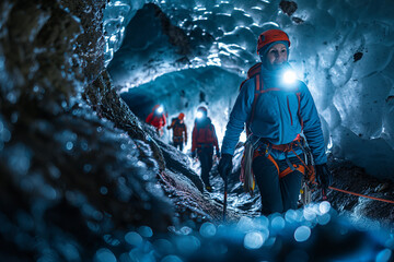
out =
[[[1,1],[0,260],[394,261],[393,10],[390,0]],[[257,38],[274,28],[289,36],[339,190],[262,215],[240,181],[246,134],[227,191],[220,156],[207,191],[192,130],[202,106],[222,145]],[[166,124],[184,114],[182,150],[146,122],[155,106]]]

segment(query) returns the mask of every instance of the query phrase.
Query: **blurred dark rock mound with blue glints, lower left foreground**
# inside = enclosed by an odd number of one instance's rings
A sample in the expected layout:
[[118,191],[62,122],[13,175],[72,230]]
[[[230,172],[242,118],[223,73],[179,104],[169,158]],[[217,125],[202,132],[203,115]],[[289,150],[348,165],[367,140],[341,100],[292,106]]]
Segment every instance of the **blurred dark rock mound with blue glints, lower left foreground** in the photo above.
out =
[[[149,225],[155,231],[172,225],[172,204],[157,180],[159,168],[144,164],[152,159],[149,146],[103,122],[89,108],[2,126],[12,127],[0,152],[1,194],[9,200],[1,203],[0,213],[11,230],[1,233],[5,246],[19,245],[7,236],[20,228],[15,217],[21,213],[32,221],[16,231],[26,235],[22,239],[28,243],[39,238],[59,255],[61,242],[80,247],[83,257],[105,234],[130,225]],[[71,222],[84,226],[71,230]],[[39,257],[40,246],[22,245],[18,250]]]

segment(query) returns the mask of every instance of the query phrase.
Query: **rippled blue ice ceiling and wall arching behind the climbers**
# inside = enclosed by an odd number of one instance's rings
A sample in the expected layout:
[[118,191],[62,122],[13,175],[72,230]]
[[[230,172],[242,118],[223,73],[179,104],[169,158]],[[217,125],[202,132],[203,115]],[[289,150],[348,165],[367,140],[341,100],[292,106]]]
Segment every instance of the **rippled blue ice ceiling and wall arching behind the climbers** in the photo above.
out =
[[257,36],[279,26],[315,99],[327,150],[394,178],[392,10],[389,0],[112,0],[106,59],[141,118],[161,103],[170,117],[183,110],[192,129],[195,108],[206,104],[221,139],[239,85],[257,61]]

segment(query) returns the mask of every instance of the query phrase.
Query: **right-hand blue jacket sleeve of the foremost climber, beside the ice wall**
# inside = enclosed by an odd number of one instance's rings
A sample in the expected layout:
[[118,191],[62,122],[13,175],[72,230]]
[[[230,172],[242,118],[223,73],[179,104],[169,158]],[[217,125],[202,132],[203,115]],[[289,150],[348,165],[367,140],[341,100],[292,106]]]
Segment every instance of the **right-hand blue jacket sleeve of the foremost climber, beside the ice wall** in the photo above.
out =
[[327,162],[322,123],[308,86],[303,82],[301,83],[300,116],[303,121],[303,133],[311,147],[315,165],[321,165]]

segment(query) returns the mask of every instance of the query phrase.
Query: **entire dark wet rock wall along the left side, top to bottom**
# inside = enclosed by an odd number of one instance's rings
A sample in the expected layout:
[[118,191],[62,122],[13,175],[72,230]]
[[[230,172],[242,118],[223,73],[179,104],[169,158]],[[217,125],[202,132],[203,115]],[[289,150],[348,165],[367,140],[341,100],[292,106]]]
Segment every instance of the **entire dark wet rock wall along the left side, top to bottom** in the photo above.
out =
[[103,72],[105,2],[0,3],[2,260],[88,261],[104,236],[173,224],[160,150]]

